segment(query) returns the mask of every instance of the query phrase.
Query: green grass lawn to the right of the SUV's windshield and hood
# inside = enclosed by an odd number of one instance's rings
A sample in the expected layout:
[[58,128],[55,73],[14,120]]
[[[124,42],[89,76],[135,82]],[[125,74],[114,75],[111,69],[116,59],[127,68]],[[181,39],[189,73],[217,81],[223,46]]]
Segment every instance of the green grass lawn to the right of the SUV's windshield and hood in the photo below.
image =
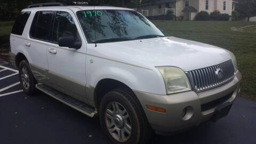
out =
[[243,75],[241,96],[256,100],[256,22],[152,21],[167,36],[212,44],[236,55]]

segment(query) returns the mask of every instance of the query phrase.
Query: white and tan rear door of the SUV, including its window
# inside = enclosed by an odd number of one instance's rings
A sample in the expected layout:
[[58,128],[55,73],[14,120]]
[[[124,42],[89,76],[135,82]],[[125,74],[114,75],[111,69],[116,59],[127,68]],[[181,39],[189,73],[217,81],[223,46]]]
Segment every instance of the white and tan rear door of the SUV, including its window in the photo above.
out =
[[51,43],[49,29],[53,19],[53,11],[37,11],[25,41],[30,57],[30,68],[38,83],[47,84],[47,45]]

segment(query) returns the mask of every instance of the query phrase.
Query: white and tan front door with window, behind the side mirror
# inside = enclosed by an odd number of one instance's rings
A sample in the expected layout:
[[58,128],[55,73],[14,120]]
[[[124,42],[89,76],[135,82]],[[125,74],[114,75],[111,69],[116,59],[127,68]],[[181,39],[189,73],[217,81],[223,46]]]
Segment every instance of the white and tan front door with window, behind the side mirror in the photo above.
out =
[[55,12],[52,30],[54,44],[47,47],[48,75],[52,87],[86,102],[85,42],[82,41],[78,50],[58,45],[60,37],[74,36],[77,41],[81,41],[82,31],[77,26],[73,12]]

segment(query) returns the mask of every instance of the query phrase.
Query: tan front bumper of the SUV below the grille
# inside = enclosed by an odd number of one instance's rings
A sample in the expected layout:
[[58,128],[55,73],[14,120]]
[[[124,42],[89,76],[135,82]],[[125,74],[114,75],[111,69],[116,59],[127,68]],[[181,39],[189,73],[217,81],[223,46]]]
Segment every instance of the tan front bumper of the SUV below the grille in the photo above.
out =
[[[157,95],[134,91],[148,118],[151,127],[159,134],[179,132],[207,122],[215,108],[225,102],[233,102],[239,92],[242,75],[239,71],[230,81],[214,89],[195,93],[182,92],[171,95]],[[165,108],[166,113],[147,109],[146,105]],[[187,113],[182,117],[183,109]]]

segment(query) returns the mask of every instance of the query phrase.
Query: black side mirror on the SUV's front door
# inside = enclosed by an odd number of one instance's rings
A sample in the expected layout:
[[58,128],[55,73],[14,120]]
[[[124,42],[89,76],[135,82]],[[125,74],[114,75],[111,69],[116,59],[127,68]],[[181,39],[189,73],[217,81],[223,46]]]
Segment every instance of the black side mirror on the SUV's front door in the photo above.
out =
[[81,39],[76,39],[74,36],[63,36],[59,38],[59,46],[68,47],[70,49],[80,49],[82,46]]

